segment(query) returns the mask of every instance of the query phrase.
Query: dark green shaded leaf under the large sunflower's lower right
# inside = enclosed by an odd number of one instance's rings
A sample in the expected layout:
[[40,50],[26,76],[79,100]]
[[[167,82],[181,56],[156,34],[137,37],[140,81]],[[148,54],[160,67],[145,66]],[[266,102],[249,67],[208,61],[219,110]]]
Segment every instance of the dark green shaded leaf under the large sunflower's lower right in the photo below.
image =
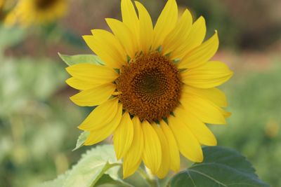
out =
[[237,151],[219,146],[205,147],[204,162],[196,163],[171,179],[171,186],[267,187],[251,163]]

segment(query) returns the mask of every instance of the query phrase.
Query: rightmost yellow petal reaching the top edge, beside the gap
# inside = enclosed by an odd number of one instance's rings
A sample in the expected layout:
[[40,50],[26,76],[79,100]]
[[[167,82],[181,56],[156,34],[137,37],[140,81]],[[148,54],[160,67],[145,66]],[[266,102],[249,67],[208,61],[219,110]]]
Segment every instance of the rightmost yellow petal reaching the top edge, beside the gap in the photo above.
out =
[[166,36],[176,26],[178,20],[178,6],[176,0],[168,0],[154,28],[152,50],[162,45]]

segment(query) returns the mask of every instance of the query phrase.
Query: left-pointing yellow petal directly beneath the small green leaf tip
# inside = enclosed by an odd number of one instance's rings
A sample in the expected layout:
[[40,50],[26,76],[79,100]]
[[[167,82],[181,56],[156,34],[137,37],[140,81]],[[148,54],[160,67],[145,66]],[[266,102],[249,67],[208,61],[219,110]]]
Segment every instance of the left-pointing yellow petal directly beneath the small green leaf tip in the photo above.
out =
[[74,64],[66,68],[66,71],[81,81],[93,84],[112,83],[118,77],[114,69],[96,64]]

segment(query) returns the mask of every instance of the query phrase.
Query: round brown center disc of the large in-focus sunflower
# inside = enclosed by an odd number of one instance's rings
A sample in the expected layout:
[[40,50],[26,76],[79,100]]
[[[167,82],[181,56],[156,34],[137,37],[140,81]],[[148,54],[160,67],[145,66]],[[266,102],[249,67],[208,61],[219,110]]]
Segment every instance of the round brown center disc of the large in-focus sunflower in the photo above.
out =
[[131,60],[121,69],[116,83],[124,109],[150,123],[167,118],[181,96],[178,69],[159,53]]

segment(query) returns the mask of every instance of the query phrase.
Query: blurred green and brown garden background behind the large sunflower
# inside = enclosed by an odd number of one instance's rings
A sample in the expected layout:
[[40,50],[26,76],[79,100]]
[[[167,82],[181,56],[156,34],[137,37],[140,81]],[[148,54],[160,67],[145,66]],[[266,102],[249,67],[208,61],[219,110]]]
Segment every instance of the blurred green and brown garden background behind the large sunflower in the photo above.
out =
[[[56,1],[59,1],[58,3]],[[142,0],[154,22],[164,0]],[[77,125],[91,108],[75,106],[58,52],[91,54],[81,36],[121,18],[119,0],[0,0],[0,186],[54,179],[89,147],[73,151]],[[36,6],[34,6],[36,4]],[[56,4],[56,5],[55,5]],[[281,186],[281,1],[178,0],[194,18],[218,29],[214,59],[235,75],[221,86],[233,115],[210,125],[219,146],[240,151],[257,174]],[[36,9],[37,7],[37,9]],[[187,167],[190,163],[182,162]]]

